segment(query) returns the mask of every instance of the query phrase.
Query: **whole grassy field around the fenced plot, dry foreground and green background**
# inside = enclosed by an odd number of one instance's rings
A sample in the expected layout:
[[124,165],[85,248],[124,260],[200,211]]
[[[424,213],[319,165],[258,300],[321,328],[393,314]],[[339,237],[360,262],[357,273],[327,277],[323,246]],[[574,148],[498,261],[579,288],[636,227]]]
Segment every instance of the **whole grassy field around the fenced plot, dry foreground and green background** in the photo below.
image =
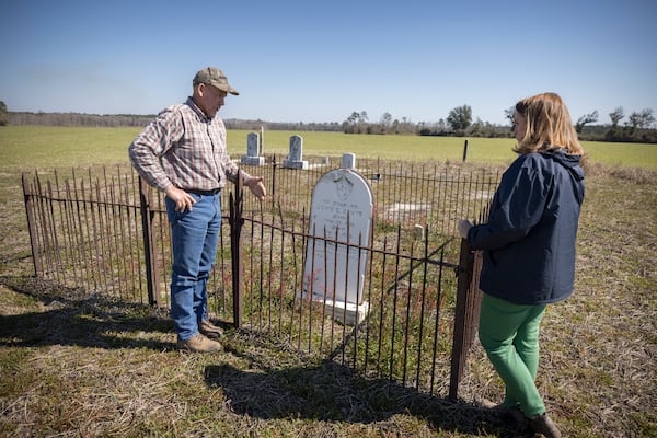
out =
[[[502,385],[479,344],[458,403],[365,379],[247,332],[174,348],[166,311],[33,278],[21,171],[126,163],[138,129],[0,128],[0,436],[511,437],[477,401]],[[285,154],[289,136],[265,132]],[[459,162],[463,139],[301,132],[308,155]],[[233,155],[246,131],[229,132]],[[504,165],[511,140],[472,139]],[[564,436],[657,437],[657,146],[585,143],[576,291],[542,326],[538,384]]]

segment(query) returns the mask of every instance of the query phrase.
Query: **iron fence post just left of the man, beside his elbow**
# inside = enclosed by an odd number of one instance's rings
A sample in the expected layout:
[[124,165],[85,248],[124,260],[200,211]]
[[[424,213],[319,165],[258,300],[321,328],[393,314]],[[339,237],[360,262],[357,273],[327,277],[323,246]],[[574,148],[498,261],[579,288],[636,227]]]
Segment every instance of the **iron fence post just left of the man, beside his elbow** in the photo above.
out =
[[148,302],[151,306],[160,303],[160,287],[155,279],[158,278],[158,267],[154,252],[153,235],[153,211],[151,210],[152,196],[146,181],[139,176],[139,209],[141,212],[141,232],[143,234],[143,255],[146,262],[146,288],[148,291]]

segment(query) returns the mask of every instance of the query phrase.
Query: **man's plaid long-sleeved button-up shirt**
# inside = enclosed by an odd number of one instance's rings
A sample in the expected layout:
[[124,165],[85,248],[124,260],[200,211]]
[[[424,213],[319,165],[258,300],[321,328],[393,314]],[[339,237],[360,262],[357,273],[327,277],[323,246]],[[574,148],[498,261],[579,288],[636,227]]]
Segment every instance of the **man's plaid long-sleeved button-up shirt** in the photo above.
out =
[[[226,150],[226,126],[208,118],[192,97],[163,110],[128,148],[130,161],[146,181],[166,192],[223,188],[235,182],[238,165]],[[242,171],[246,183],[250,175]]]

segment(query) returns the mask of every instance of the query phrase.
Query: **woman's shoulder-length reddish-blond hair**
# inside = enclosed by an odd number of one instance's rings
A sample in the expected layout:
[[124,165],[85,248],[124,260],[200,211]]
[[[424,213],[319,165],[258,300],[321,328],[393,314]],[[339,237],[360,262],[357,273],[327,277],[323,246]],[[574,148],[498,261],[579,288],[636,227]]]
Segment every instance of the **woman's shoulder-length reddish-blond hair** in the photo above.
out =
[[568,154],[584,155],[568,108],[556,93],[542,93],[523,99],[516,111],[527,119],[525,136],[514,149],[531,153],[565,148]]

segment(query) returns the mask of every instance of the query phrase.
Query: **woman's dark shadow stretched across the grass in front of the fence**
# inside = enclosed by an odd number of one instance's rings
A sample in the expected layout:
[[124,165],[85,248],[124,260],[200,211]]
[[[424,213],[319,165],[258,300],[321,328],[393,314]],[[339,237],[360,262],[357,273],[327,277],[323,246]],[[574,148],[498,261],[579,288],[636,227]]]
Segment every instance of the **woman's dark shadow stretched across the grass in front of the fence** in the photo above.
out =
[[331,360],[265,372],[212,365],[205,368],[205,381],[209,388],[222,389],[234,413],[263,419],[367,424],[405,414],[437,430],[496,437],[522,434],[491,410],[422,393],[389,379],[364,378]]

